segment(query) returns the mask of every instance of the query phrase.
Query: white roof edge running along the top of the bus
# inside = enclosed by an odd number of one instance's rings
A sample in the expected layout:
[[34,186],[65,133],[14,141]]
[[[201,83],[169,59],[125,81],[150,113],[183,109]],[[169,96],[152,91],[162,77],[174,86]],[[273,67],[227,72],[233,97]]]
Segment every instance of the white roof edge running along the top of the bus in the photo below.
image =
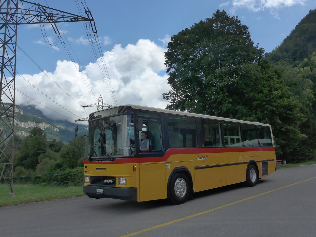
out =
[[[229,122],[247,123],[247,124],[254,124],[254,125],[264,125],[264,126],[271,127],[269,124],[262,124],[262,123],[258,123],[258,122],[249,122],[249,121],[238,120],[238,119],[228,119],[228,118],[216,117],[216,116],[205,115],[205,114],[189,113],[189,112],[175,111],[175,110],[170,110],[170,109],[160,109],[160,108],[140,106],[140,105],[120,105],[120,106],[115,106],[115,107],[121,107],[121,106],[131,106],[134,109],[148,110],[148,111],[152,111],[152,112],[178,114],[178,115],[183,115],[183,116],[193,116],[193,117],[206,118],[206,119],[218,119],[218,120],[224,120],[224,121],[229,121]],[[110,107],[108,109],[111,109],[111,108],[114,108],[114,107]]]

